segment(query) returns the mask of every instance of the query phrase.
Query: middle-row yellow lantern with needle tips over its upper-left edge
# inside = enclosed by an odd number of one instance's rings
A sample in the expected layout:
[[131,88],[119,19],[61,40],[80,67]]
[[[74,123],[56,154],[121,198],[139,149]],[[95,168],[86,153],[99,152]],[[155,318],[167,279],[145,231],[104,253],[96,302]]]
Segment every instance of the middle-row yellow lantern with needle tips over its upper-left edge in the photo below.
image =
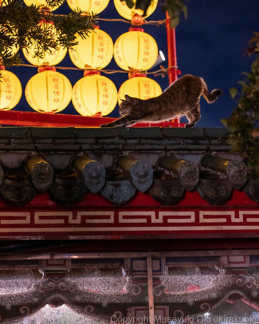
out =
[[71,61],[80,69],[103,69],[112,59],[113,41],[97,26],[94,31],[88,33],[88,36],[82,38],[77,35],[78,44],[68,50]]

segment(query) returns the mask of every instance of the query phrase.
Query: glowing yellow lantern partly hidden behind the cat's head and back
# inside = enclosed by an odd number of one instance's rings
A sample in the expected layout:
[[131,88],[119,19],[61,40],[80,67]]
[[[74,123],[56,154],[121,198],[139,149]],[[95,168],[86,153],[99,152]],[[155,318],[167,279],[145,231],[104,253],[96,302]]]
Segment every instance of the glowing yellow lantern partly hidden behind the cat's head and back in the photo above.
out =
[[134,76],[123,82],[118,91],[118,103],[125,100],[125,95],[139,99],[149,99],[160,96],[162,89],[153,79],[145,75]]

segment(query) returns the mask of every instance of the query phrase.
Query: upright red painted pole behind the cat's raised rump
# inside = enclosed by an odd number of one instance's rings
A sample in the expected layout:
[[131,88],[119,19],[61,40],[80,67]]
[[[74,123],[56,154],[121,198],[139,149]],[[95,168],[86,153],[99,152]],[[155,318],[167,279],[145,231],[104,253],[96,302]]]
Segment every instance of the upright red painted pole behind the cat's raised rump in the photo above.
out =
[[[175,28],[170,27],[170,17],[166,12],[166,35],[167,35],[167,54],[168,54],[168,66],[175,66],[168,70],[169,85],[177,80],[177,74],[181,74],[181,71],[177,69],[177,57],[176,57],[176,42],[175,42]],[[180,127],[180,119],[175,118],[176,127]]]

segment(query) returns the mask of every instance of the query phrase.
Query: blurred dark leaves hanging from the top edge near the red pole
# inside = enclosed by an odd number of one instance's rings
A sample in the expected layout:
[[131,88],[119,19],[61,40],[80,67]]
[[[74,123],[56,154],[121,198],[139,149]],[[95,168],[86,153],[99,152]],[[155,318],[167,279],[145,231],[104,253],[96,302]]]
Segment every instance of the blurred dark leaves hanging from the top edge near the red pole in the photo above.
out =
[[[131,9],[134,6],[133,0],[120,0],[125,1],[126,5]],[[153,0],[136,0],[136,9],[141,9],[143,11],[142,17],[146,16],[148,7],[151,5]],[[167,0],[163,6],[163,10],[168,12],[170,17],[171,28],[175,28],[180,19],[181,12],[184,17],[187,18],[187,6],[186,2],[188,0]]]

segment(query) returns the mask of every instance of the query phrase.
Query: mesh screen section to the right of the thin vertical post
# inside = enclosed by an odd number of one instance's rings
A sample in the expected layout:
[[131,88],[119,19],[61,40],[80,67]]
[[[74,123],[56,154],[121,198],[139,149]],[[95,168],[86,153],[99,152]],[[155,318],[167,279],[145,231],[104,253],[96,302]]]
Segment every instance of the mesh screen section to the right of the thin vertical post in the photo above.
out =
[[162,307],[164,318],[155,320],[259,323],[259,267],[251,265],[253,257],[161,258],[162,275],[153,279],[153,291],[155,309]]

